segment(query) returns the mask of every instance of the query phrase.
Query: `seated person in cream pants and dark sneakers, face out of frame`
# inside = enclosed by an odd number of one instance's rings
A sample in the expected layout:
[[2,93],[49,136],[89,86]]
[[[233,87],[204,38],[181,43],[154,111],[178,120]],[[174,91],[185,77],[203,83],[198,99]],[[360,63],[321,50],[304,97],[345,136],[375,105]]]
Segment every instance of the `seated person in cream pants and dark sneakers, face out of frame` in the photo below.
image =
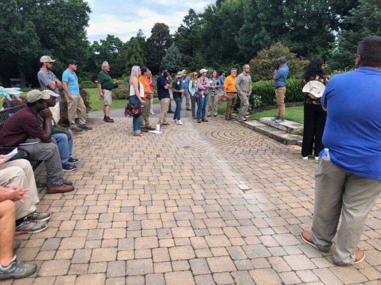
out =
[[[4,155],[0,155],[0,159]],[[33,169],[28,160],[16,159],[0,162],[0,191],[7,189],[12,191],[14,187],[28,189],[29,199],[16,202],[16,235],[33,234],[48,228],[50,213],[40,213],[36,210],[36,204],[40,201]]]

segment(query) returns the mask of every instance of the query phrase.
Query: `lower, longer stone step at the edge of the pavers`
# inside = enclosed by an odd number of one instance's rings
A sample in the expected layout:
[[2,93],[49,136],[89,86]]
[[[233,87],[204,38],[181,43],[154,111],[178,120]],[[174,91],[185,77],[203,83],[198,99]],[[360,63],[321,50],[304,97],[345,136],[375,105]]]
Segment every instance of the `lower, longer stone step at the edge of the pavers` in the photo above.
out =
[[287,145],[298,144],[298,141],[301,141],[303,139],[303,137],[301,136],[289,134],[285,131],[281,131],[277,128],[262,124],[255,120],[242,122],[242,125],[246,128],[252,129],[260,134],[263,134],[275,141]]

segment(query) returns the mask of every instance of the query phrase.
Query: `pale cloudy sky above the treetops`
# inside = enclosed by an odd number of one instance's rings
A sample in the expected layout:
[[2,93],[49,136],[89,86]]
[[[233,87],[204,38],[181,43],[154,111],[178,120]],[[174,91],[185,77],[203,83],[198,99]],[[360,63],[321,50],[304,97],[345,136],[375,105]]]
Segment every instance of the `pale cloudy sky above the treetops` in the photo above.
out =
[[91,8],[87,37],[93,41],[106,39],[107,34],[123,42],[141,29],[148,38],[155,23],[165,23],[173,34],[188,10],[202,12],[214,0],[87,0]]

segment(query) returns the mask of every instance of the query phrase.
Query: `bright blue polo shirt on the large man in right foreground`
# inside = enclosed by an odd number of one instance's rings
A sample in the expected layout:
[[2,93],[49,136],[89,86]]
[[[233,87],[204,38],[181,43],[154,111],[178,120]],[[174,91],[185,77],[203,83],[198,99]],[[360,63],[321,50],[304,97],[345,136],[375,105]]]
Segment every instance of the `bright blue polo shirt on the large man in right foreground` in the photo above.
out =
[[331,161],[349,173],[381,180],[381,71],[360,67],[333,76],[321,105],[327,108],[323,144]]

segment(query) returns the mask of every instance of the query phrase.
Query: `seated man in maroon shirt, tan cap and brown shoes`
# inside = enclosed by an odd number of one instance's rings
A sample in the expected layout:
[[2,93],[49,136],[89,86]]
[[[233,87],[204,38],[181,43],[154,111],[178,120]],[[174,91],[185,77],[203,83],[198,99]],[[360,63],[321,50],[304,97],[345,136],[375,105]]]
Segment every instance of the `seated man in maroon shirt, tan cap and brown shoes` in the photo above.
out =
[[[52,112],[46,106],[50,95],[39,90],[26,95],[27,106],[9,117],[0,131],[0,147],[17,147],[29,137],[41,142],[23,145],[31,159],[44,160],[47,171],[47,194],[64,193],[74,190],[72,183],[64,182],[60,152],[56,140],[52,138]],[[44,118],[43,127],[37,118]]]

